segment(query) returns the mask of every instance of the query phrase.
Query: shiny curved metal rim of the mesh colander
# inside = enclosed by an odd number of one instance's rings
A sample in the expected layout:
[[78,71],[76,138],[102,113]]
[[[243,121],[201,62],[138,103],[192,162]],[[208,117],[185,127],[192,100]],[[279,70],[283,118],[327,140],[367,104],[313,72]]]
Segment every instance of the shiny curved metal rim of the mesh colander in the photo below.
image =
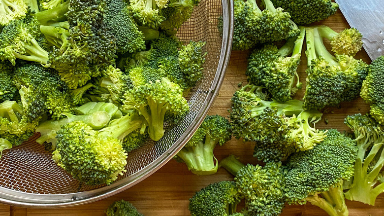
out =
[[220,61],[218,68],[216,70],[216,75],[212,83],[210,92],[207,95],[207,100],[203,107],[205,109],[199,110],[197,113],[196,121],[194,124],[191,124],[183,134],[186,134],[185,138],[179,138],[175,144],[173,144],[167,151],[165,151],[159,158],[155,159],[150,163],[146,168],[142,169],[135,174],[119,180],[111,185],[97,188],[90,191],[78,192],[78,193],[69,193],[69,194],[39,194],[36,199],[36,194],[20,192],[16,190],[11,190],[7,188],[0,187],[0,202],[13,206],[21,206],[28,208],[56,208],[56,207],[68,207],[81,205],[86,203],[95,202],[110,196],[113,196],[123,190],[132,187],[133,185],[139,183],[140,181],[146,179],[156,171],[158,171],[165,163],[167,163],[171,158],[184,146],[184,144],[191,139],[193,133],[197,130],[201,122],[204,120],[205,116],[208,114],[208,111],[212,107],[216,97],[219,94],[220,87],[223,82],[223,77],[225,70],[227,68],[229,57],[232,47],[232,37],[233,37],[233,0],[222,0],[223,14],[228,14],[224,23],[227,22],[228,25],[224,25],[223,32],[228,33],[223,35],[222,49],[220,52]]

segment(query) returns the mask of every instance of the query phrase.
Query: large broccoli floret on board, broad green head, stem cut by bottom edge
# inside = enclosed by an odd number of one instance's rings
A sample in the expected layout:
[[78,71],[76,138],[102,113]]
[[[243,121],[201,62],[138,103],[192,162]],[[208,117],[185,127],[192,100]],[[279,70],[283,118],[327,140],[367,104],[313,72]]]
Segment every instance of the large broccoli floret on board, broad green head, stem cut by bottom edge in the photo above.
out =
[[335,129],[313,149],[292,154],[285,176],[288,204],[310,202],[330,216],[348,216],[343,181],[353,175],[356,154],[354,141]]

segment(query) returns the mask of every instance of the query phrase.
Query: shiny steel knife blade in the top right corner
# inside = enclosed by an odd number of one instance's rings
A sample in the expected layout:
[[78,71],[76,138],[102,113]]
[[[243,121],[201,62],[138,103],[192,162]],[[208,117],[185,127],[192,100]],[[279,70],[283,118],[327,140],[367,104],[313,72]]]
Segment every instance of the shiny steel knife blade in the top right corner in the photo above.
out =
[[384,55],[383,0],[335,0],[351,27],[363,35],[363,47],[372,60]]

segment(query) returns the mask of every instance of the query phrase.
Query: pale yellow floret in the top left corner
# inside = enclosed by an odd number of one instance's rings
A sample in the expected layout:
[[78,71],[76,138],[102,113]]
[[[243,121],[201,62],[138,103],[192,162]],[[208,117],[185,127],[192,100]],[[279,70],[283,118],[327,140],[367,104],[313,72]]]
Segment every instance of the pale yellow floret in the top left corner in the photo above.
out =
[[0,27],[8,25],[12,20],[23,19],[27,12],[24,0],[1,0]]

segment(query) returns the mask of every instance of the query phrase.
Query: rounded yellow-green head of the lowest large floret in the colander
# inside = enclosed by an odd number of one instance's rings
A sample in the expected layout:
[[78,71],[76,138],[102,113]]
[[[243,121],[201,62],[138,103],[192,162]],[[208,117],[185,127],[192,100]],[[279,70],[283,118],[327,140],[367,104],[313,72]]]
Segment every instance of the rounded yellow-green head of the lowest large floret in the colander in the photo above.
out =
[[121,141],[101,135],[82,121],[63,125],[56,138],[52,159],[80,182],[111,184],[126,172],[127,153]]

